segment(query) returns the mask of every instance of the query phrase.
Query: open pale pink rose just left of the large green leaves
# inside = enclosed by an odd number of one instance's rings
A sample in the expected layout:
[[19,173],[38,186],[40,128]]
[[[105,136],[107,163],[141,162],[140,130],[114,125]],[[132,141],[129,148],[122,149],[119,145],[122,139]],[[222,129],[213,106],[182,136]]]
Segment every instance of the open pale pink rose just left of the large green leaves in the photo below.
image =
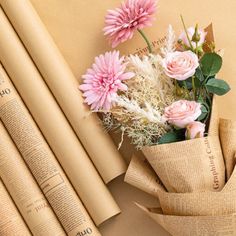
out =
[[176,80],[186,80],[192,77],[199,67],[198,57],[192,51],[168,53],[162,65],[165,74]]

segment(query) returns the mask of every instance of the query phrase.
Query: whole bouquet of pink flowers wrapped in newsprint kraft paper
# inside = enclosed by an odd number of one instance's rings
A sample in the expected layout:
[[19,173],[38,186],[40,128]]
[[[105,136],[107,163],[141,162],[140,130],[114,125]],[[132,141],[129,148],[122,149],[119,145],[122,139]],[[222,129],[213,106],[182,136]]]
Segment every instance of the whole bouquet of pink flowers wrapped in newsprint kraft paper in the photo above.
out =
[[236,125],[219,121],[215,101],[230,90],[217,78],[222,51],[216,50],[211,25],[187,28],[183,17],[179,37],[170,25],[164,45],[154,51],[143,28],[151,26],[156,9],[155,0],[127,0],[108,11],[104,34],[112,47],[137,31],[149,53],[99,55],[80,89],[106,130],[120,132],[119,147],[128,136],[144,154],[145,161],[131,161],[126,181],[158,197],[161,208],[141,208],[173,235],[221,235],[228,230],[222,220],[233,220],[236,212],[235,153],[229,145]]

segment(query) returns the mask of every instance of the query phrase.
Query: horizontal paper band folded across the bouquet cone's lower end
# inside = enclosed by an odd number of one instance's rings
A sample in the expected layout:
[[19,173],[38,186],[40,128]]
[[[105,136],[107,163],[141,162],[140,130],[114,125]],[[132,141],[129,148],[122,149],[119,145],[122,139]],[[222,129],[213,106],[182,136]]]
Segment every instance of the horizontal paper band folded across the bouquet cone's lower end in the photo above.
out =
[[159,192],[165,215],[217,216],[236,213],[236,191],[168,193]]

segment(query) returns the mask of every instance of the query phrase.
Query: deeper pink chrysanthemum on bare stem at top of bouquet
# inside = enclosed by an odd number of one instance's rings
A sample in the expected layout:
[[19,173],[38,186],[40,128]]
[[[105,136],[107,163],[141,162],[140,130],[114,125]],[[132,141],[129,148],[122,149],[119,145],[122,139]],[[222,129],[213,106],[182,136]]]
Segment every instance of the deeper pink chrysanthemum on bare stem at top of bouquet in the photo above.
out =
[[108,10],[103,31],[112,47],[131,39],[135,30],[151,26],[156,5],[156,0],[126,0],[121,7]]

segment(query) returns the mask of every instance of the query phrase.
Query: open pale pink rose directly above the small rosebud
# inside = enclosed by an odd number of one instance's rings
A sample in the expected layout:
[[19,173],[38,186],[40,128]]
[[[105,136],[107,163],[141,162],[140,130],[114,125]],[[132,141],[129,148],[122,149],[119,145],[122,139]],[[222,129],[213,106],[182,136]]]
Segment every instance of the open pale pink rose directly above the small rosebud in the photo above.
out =
[[164,118],[179,128],[185,128],[200,115],[201,104],[195,101],[180,100],[165,108]]

